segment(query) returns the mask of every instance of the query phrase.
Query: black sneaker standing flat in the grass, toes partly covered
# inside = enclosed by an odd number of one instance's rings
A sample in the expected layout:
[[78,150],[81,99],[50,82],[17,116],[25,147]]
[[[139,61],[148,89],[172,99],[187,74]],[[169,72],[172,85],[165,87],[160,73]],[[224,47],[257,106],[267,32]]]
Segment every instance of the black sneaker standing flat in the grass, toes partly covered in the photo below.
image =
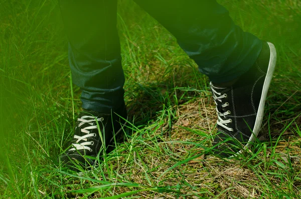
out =
[[91,169],[97,164],[98,153],[101,156],[102,151],[114,140],[122,138],[126,117],[125,105],[112,115],[91,110],[81,112],[77,119],[73,142],[60,156],[62,165],[75,171],[79,171],[79,167],[84,170]]

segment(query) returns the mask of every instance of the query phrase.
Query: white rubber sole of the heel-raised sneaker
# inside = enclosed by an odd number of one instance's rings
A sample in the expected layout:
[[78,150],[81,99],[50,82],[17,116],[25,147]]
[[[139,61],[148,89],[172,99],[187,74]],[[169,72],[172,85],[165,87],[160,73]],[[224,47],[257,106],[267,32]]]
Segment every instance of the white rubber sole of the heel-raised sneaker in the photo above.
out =
[[[257,116],[255,119],[255,124],[254,124],[254,128],[253,128],[253,133],[250,136],[250,139],[248,141],[248,143],[245,145],[245,149],[249,148],[251,143],[255,141],[259,130],[261,128],[261,123],[262,123],[262,119],[263,119],[263,113],[264,113],[264,104],[265,104],[265,99],[267,96],[267,92],[273,77],[273,73],[275,70],[275,66],[276,66],[276,61],[277,61],[277,52],[276,52],[276,48],[272,43],[267,42],[269,48],[270,48],[270,59],[269,59],[269,64],[268,64],[268,68],[267,68],[267,72],[266,72],[266,76],[264,79],[264,83],[263,83],[263,87],[262,87],[262,92],[261,92],[261,99],[259,102],[259,106],[258,106],[258,111],[257,111]],[[240,150],[239,152],[236,153],[236,155],[240,154],[242,152],[242,150]],[[230,157],[236,156],[236,155],[232,155]],[[229,158],[230,158],[229,157]]]

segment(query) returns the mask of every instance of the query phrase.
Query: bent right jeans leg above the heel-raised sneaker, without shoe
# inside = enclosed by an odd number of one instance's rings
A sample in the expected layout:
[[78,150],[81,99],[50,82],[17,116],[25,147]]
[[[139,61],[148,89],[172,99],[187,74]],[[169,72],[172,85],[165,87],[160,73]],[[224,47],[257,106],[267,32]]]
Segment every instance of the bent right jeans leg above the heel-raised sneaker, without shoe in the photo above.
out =
[[262,42],[235,26],[215,0],[134,0],[177,39],[214,83],[231,81],[255,63]]

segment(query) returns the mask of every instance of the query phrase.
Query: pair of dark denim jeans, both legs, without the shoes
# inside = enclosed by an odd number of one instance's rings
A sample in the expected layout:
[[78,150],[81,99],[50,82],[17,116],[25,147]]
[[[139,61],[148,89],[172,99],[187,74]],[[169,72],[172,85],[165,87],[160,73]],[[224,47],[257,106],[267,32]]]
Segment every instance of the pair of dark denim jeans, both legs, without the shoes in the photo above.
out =
[[[134,1],[176,37],[200,72],[214,83],[247,72],[261,51],[262,41],[234,25],[215,0]],[[82,107],[114,111],[122,105],[124,94],[117,0],[60,0],[60,8],[72,79],[82,89]]]

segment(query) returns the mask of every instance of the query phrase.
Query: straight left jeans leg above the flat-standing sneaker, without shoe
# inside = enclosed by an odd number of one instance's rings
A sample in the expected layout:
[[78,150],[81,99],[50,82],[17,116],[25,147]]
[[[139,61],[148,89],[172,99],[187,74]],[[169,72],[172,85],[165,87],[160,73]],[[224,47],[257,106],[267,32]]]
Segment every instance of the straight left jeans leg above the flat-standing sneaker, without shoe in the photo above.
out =
[[110,113],[123,103],[124,94],[117,0],[60,0],[60,9],[72,80],[82,89],[82,107]]

